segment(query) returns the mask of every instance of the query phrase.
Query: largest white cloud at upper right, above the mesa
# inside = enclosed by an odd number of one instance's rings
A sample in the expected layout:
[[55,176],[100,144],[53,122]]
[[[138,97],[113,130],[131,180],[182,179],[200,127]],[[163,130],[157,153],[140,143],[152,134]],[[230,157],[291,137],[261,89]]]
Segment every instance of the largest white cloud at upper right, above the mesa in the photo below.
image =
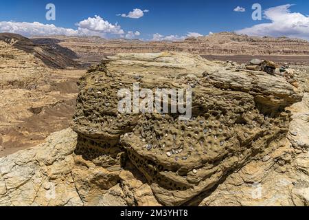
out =
[[264,11],[264,19],[271,23],[253,25],[236,31],[249,36],[287,36],[309,40],[309,17],[299,12],[290,12],[291,4],[268,8]]

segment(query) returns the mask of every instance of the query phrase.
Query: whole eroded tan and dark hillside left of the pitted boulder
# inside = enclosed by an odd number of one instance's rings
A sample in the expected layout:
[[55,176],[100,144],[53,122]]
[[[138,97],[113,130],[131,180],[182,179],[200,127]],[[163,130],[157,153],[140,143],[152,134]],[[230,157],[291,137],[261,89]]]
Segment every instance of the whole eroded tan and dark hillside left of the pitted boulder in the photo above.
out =
[[73,69],[78,66],[52,47],[0,34],[0,157],[36,146],[69,126],[76,82],[84,74]]

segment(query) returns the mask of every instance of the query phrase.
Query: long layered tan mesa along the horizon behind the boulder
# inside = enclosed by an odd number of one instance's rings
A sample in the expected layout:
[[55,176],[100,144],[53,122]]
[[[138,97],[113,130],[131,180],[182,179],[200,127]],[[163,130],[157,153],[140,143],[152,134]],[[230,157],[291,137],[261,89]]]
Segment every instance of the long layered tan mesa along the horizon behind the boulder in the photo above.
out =
[[[102,39],[99,37],[80,36],[37,36],[38,39],[58,39],[58,45],[67,47],[80,58],[78,61],[89,64],[99,63],[104,56],[117,53],[158,53],[187,52],[201,55],[210,60],[233,61],[244,63],[252,58],[248,56],[281,56],[266,58],[276,62],[309,63],[309,42],[301,39],[269,36],[247,36],[232,32],[221,32],[197,38],[189,37],[184,41],[139,41],[126,39]],[[42,41],[41,41],[42,42]],[[227,58],[233,56],[233,58]],[[286,57],[282,57],[286,56]],[[291,57],[297,56],[297,57]]]

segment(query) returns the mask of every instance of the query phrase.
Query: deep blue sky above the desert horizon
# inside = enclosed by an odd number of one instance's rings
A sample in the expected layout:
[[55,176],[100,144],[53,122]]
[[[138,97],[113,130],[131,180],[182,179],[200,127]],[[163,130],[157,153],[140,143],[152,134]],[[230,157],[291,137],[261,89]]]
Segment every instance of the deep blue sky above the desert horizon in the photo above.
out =
[[[54,3],[56,5],[56,21],[47,21],[45,19],[45,5],[47,3]],[[244,28],[252,28],[255,25],[272,23],[271,19],[262,19],[262,21],[253,21],[251,19],[251,6],[253,3],[260,3],[262,10],[277,7],[280,5],[289,5],[286,10],[290,16],[290,25],[294,25],[295,16],[293,13],[299,13],[303,17],[297,19],[297,23],[301,22],[301,27],[306,29],[309,25],[309,1],[290,0],[290,1],[251,1],[251,0],[238,0],[238,1],[207,1],[207,0],[88,0],[88,1],[1,1],[0,2],[0,31],[21,32],[21,34],[27,34],[25,28],[21,28],[18,25],[20,22],[33,23],[38,22],[41,24],[54,24],[57,28],[71,28],[77,30],[80,28],[78,23],[80,21],[87,20],[88,18],[94,18],[95,15],[100,16],[100,19],[91,22],[104,21],[111,25],[117,25],[118,30],[123,30],[123,33],[111,32],[108,30],[100,30],[100,36],[104,37],[125,37],[130,36],[132,38],[139,39],[152,39],[154,34],[159,34],[163,39],[165,36],[175,36],[175,38],[181,39],[183,36],[187,36],[188,32],[195,32],[201,35],[207,35],[209,32],[222,32],[222,31],[238,31],[244,30]],[[245,12],[235,12],[234,8],[240,6],[244,8]],[[133,12],[133,9],[149,10],[144,12],[144,16],[139,19],[132,19],[130,17],[117,16],[116,14],[126,14]],[[281,14],[280,14],[281,13]],[[271,13],[273,14],[273,13]],[[284,12],[277,12],[275,14],[276,21],[280,21],[279,17],[284,17]],[[307,20],[308,19],[308,20]],[[100,21],[99,21],[100,20]],[[3,23],[11,21],[11,23]],[[90,22],[90,21],[89,21]],[[307,23],[308,22],[308,23]],[[13,23],[13,24],[12,24]],[[18,28],[14,26],[14,23],[18,25]],[[10,27],[8,27],[10,25]],[[93,26],[93,25],[92,25]],[[294,25],[295,26],[295,25]],[[84,23],[83,28],[87,28],[87,23]],[[309,26],[308,26],[309,27]],[[113,28],[113,27],[112,27]],[[261,26],[259,27],[261,28]],[[269,27],[266,27],[269,28]],[[275,28],[275,25],[273,25]],[[28,30],[29,34],[36,34],[36,30]],[[35,27],[32,27],[35,29]],[[93,34],[93,28],[87,32],[87,34]],[[282,29],[286,27],[282,26]],[[309,28],[308,28],[309,29]],[[44,30],[47,34],[51,34],[52,31]],[[256,34],[257,30],[250,30],[253,34]],[[299,29],[290,30],[288,27],[286,35],[296,36],[306,39],[306,30],[299,33]],[[260,29],[259,29],[259,32]],[[264,30],[262,30],[264,33]],[[58,32],[56,32],[58,33]],[[83,32],[84,33],[84,32]],[[265,32],[266,34],[278,34],[273,32]],[[38,34],[41,34],[38,33]],[[246,32],[250,34],[250,32]],[[279,34],[282,34],[279,31]],[[284,33],[283,33],[284,34]],[[304,36],[303,36],[304,35]]]

